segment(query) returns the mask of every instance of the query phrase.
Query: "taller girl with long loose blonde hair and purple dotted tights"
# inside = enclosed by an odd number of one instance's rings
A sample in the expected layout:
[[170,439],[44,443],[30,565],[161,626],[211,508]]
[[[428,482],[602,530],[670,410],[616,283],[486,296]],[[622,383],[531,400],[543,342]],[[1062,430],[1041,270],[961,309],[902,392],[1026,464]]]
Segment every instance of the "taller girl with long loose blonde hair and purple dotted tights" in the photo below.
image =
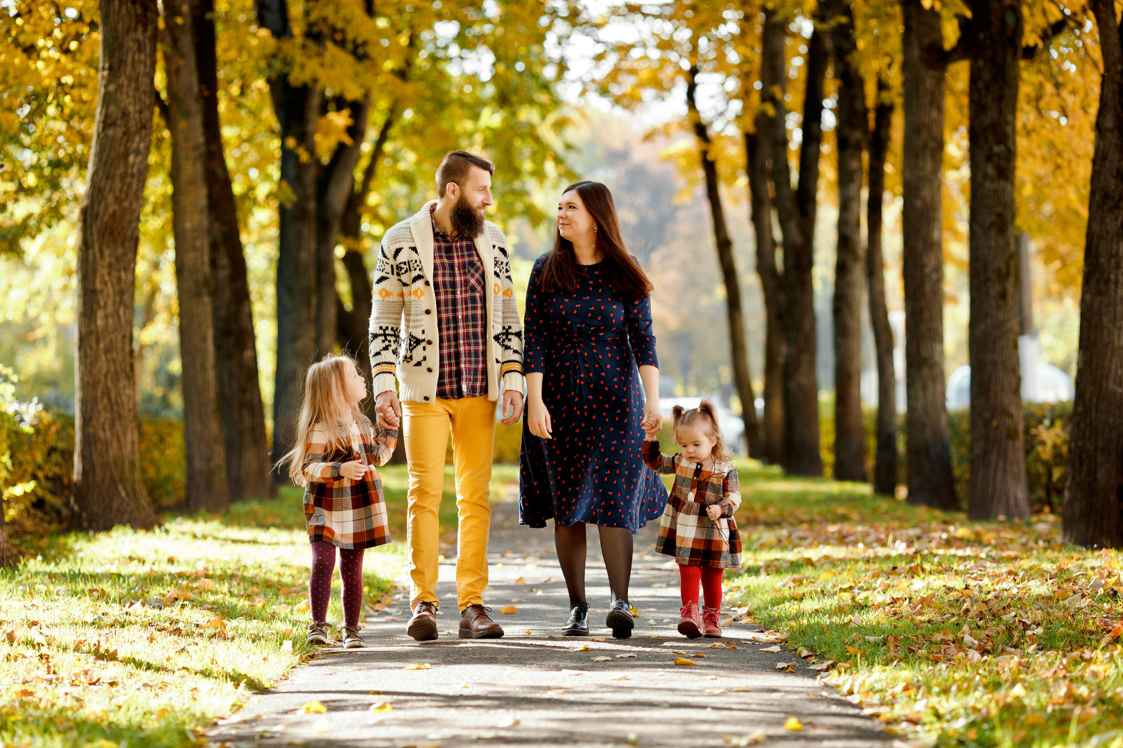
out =
[[312,544],[308,581],[312,621],[309,644],[328,644],[326,617],[331,576],[339,548],[343,582],[344,647],[365,647],[358,632],[363,609],[363,552],[390,542],[386,502],[375,465],[394,452],[396,430],[375,436],[369,418],[358,409],[366,380],[355,361],[327,355],[308,369],[295,445],[279,462],[289,478],[304,487],[304,517]]

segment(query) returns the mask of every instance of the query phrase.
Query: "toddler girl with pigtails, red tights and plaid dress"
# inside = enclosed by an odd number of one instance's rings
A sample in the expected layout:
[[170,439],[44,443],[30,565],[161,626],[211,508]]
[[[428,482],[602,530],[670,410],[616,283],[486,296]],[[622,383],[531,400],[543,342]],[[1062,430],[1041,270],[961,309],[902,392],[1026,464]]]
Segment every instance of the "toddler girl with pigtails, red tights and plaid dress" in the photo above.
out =
[[[643,441],[643,462],[659,473],[675,474],[670,498],[659,519],[656,551],[678,564],[683,608],[679,634],[720,637],[721,576],[741,565],[741,538],[733,512],[741,506],[737,470],[729,464],[725,441],[713,404],[675,406],[675,440],[682,451],[667,455],[659,442]],[[699,584],[705,607],[699,615]]]

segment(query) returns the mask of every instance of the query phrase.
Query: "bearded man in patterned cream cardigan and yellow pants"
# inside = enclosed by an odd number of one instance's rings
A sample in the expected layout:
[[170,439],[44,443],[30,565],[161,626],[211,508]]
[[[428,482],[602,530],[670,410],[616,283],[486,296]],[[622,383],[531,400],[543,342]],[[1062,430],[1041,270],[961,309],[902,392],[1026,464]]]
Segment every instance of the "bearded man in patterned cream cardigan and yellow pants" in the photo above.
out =
[[[453,435],[460,638],[495,638],[487,615],[489,488],[496,401],[504,424],[522,416],[522,325],[506,237],[484,220],[495,165],[456,150],[437,168],[438,197],[382,239],[371,314],[371,369],[378,426],[404,421],[410,487],[407,570],[413,616],[407,634],[437,638],[437,510]],[[401,403],[394,379],[401,388]],[[404,406],[404,416],[402,414]]]

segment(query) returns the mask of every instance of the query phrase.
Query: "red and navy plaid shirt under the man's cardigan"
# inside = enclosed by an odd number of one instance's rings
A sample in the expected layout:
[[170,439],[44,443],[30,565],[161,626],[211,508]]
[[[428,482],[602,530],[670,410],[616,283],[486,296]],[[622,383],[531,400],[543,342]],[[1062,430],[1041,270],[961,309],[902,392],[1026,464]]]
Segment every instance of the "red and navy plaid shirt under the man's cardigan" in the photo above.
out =
[[[429,209],[432,215],[433,203]],[[437,397],[487,395],[487,308],[484,267],[473,237],[454,240],[432,220],[432,285],[440,331]]]

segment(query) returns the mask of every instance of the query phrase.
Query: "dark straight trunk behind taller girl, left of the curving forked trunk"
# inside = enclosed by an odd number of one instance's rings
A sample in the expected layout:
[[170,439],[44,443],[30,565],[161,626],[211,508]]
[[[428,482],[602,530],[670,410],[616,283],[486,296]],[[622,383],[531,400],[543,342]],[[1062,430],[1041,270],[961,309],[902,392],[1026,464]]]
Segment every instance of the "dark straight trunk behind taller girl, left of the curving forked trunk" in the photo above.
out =
[[[261,25],[276,39],[292,36],[284,0],[257,3]],[[322,92],[295,86],[281,72],[270,79],[273,111],[281,128],[281,182],[286,198],[279,211],[277,352],[273,395],[273,458],[292,445],[304,389],[304,372],[317,352],[317,187],[316,124]],[[276,475],[277,480],[285,480]]]

